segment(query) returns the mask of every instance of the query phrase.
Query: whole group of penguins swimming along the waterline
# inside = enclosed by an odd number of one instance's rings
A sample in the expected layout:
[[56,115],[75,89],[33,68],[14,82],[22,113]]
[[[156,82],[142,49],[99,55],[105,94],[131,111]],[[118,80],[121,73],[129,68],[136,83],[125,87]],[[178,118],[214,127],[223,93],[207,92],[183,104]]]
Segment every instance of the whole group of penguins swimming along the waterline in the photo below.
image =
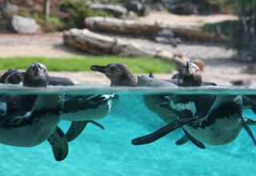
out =
[[[90,66],[110,79],[110,86],[142,86],[177,89],[179,87],[216,86],[202,82],[198,66],[187,62],[178,78],[160,80],[153,76],[135,76],[121,63]],[[0,78],[2,86],[20,83],[25,87],[74,86],[70,78],[50,77],[46,66],[33,63],[26,72],[7,70]],[[256,145],[251,125],[256,121],[244,118],[242,111],[256,112],[256,95],[215,94],[144,94],[146,107],[157,114],[166,126],[152,134],[134,138],[133,145],[154,142],[180,128],[184,136],[176,142],[193,142],[204,149],[204,144],[223,145],[232,142],[244,128]],[[118,103],[118,94],[0,94],[0,142],[10,146],[37,146],[48,140],[54,158],[62,161],[68,154],[68,142],[77,138],[88,122],[104,128],[94,119],[104,118]],[[66,134],[58,127],[62,119],[71,121]]]

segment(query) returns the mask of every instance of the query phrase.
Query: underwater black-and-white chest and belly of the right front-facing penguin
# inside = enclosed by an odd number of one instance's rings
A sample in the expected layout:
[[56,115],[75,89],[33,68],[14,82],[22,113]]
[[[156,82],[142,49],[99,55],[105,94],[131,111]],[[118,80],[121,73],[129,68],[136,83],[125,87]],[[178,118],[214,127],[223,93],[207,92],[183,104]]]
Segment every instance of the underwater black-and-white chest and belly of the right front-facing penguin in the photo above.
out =
[[234,98],[217,98],[209,113],[184,128],[196,139],[210,145],[232,142],[242,129],[242,103]]

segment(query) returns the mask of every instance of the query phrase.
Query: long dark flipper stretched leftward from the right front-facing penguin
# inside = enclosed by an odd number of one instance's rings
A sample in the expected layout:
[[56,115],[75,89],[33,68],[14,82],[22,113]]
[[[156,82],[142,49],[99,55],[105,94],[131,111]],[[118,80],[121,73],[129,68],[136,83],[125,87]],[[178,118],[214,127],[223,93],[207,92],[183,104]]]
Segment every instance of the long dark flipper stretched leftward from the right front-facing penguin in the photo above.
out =
[[173,130],[176,130],[177,128],[186,125],[189,122],[193,122],[197,120],[198,117],[195,118],[181,118],[178,120],[174,120],[173,122],[168,123],[166,126],[163,126],[162,128],[154,131],[151,134],[148,134],[146,136],[142,136],[139,138],[134,138],[131,143],[133,145],[142,145],[142,144],[147,144],[154,142],[158,140],[159,138],[164,137],[166,134],[169,134]]

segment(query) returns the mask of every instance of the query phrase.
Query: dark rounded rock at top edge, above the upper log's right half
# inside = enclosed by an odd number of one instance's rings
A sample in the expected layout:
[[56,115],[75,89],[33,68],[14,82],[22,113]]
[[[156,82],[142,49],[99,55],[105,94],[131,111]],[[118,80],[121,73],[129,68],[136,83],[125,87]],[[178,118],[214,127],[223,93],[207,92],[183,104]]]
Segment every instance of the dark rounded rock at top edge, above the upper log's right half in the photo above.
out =
[[194,6],[190,3],[181,3],[178,5],[170,5],[168,10],[173,14],[180,15],[190,15],[190,14],[198,14],[197,6]]

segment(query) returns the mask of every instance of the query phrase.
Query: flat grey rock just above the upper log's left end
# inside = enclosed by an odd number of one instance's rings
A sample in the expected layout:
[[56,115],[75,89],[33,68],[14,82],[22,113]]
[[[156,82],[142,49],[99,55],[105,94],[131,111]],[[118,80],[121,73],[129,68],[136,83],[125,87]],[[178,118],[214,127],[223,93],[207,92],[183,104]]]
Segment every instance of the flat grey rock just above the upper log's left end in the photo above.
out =
[[92,10],[102,10],[109,14],[113,14],[116,18],[124,18],[127,14],[126,8],[118,5],[110,4],[91,4],[90,9]]

